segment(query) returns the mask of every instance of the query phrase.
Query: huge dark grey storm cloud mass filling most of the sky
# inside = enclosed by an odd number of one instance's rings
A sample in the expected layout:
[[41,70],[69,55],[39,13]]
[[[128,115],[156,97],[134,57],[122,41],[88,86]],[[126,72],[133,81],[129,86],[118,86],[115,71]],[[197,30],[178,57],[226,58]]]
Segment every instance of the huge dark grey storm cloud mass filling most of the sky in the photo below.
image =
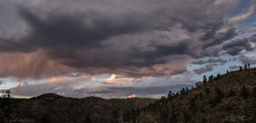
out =
[[[191,59],[219,56],[221,49],[216,46],[236,36],[233,27],[219,32],[232,5],[212,0],[19,3],[13,7],[18,6],[17,20],[26,25],[26,30],[20,28],[26,35],[0,35],[0,51],[40,50],[55,64],[92,75],[177,75],[187,71]],[[62,67],[61,74],[65,74]],[[9,75],[29,75],[11,70]]]

